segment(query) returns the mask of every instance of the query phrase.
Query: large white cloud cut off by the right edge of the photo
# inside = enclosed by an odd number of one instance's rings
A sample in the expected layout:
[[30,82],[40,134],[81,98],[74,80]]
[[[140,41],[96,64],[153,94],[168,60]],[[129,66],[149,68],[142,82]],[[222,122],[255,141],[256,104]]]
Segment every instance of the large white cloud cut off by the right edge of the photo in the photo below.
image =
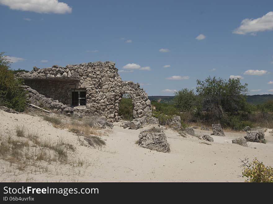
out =
[[245,35],[252,33],[255,35],[256,32],[273,30],[273,11],[268,12],[266,15],[257,19],[244,19],[241,22],[239,28],[236,28],[233,33]]

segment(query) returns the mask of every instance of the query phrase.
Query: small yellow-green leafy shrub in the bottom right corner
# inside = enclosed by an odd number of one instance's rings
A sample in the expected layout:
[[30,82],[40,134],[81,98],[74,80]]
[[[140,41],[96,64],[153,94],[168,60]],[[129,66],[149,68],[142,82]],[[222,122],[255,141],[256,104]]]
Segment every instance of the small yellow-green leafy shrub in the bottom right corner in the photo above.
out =
[[243,163],[240,167],[243,167],[243,176],[247,177],[245,182],[273,182],[273,168],[265,167],[265,165],[254,158],[252,162],[248,161],[248,158],[240,159]]

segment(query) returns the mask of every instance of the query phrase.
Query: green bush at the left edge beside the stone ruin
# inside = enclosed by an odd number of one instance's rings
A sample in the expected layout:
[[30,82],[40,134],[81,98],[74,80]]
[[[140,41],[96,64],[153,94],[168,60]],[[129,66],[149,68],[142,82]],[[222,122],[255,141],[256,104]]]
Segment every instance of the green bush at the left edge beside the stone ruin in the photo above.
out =
[[0,53],[0,105],[7,106],[18,112],[24,111],[26,93],[21,87],[22,80],[16,79],[10,70],[10,61]]

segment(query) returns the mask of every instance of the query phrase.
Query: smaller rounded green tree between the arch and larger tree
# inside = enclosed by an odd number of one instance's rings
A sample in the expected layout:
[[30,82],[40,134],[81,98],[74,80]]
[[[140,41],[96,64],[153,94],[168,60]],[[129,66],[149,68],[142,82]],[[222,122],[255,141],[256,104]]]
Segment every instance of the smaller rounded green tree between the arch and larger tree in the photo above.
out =
[[181,112],[193,111],[193,109],[198,108],[200,104],[198,99],[199,98],[195,95],[194,91],[187,88],[175,92],[173,98],[174,105]]

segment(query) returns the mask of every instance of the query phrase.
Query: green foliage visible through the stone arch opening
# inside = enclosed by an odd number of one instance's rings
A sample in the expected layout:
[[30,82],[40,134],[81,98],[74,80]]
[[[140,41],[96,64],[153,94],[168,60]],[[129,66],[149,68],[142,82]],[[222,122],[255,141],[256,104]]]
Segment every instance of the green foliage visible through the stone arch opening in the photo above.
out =
[[124,120],[133,119],[133,104],[128,94],[124,94],[119,103],[119,116],[122,116]]

